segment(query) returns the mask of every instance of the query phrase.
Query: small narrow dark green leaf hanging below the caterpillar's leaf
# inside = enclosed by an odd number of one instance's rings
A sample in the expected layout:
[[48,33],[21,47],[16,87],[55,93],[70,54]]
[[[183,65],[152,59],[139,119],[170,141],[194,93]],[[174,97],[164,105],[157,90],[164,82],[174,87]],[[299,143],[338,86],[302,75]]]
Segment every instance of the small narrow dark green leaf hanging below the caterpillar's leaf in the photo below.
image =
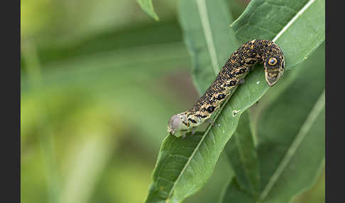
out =
[[251,133],[248,111],[241,115],[234,135],[225,147],[236,180],[244,190],[257,194],[260,190],[258,155]]

